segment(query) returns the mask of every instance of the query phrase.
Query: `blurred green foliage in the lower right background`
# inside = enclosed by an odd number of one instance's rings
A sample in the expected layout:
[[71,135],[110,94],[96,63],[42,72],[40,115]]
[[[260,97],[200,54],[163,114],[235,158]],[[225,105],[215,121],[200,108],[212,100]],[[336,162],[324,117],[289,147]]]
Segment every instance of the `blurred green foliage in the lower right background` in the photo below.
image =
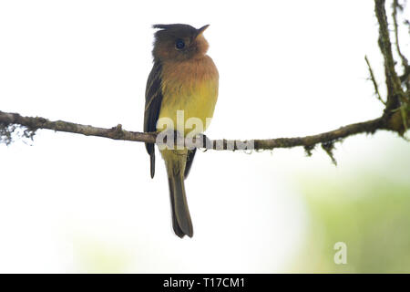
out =
[[[294,272],[410,272],[410,180],[360,172],[305,181],[302,192],[311,222]],[[333,261],[337,242],[347,245],[345,265]]]

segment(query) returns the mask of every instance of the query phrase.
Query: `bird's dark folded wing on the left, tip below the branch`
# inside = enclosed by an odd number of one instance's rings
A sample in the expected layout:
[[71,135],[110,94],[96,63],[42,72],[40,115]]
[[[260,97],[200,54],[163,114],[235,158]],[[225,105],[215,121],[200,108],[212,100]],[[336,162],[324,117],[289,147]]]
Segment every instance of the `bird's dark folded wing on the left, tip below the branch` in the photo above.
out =
[[[157,121],[159,118],[159,110],[162,102],[161,89],[161,70],[160,62],[155,62],[149,73],[147,81],[147,89],[145,90],[145,112],[144,112],[144,131],[156,131]],[[147,152],[149,153],[151,165],[151,178],[155,174],[155,149],[153,143],[145,143]]]

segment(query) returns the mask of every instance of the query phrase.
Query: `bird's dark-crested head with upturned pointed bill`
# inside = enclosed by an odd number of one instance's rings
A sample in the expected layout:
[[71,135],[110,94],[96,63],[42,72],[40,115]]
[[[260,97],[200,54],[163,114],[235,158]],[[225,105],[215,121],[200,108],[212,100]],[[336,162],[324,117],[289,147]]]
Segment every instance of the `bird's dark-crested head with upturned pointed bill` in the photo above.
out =
[[154,59],[185,61],[205,56],[209,45],[202,33],[208,26],[196,29],[189,25],[180,24],[154,25],[154,28],[159,28],[159,31],[155,33],[152,51]]

